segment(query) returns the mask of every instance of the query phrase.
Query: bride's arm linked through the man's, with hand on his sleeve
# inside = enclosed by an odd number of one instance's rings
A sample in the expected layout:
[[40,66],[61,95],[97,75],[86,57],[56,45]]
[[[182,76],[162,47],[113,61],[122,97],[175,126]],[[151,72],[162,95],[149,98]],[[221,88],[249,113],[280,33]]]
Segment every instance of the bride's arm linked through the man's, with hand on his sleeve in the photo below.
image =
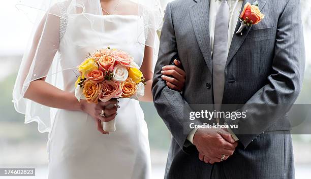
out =
[[[145,95],[140,97],[140,101],[150,102],[152,101],[152,93],[151,93],[151,86],[152,86],[152,61],[153,58],[153,48],[145,46],[145,53],[143,63],[141,65],[140,70],[142,71],[144,78],[146,79],[146,86],[145,86]],[[175,65],[167,65],[163,67],[163,76],[162,79],[166,81],[166,84],[169,88],[182,91],[184,83],[185,83],[185,72],[179,68],[180,62],[175,60]]]

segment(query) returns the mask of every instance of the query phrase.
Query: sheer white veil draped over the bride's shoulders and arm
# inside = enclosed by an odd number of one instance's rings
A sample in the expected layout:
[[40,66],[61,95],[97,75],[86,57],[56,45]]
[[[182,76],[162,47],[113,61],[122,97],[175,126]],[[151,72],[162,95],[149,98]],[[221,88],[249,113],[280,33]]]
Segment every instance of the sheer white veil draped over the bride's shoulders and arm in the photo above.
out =
[[[127,15],[143,18],[143,24],[137,23],[137,30],[131,32],[131,34],[139,44],[153,48],[153,64],[155,64],[159,50],[157,31],[161,30],[164,15],[159,0],[122,1],[131,2],[137,7],[137,12]],[[21,0],[18,1],[16,7],[26,14],[30,22],[34,23],[34,28],[15,82],[13,90],[14,106],[16,111],[25,114],[25,123],[36,121],[40,132],[49,132],[56,109],[25,99],[23,96],[30,82],[42,78],[45,78],[46,82],[57,88],[65,88],[67,84],[64,84],[63,74],[74,73],[76,66],[84,60],[77,59],[73,63],[60,63],[61,60],[67,60],[61,58],[59,50],[61,41],[66,39],[67,44],[72,44],[72,48],[83,48],[84,45],[66,38],[68,21],[74,18],[75,15],[82,15],[87,20],[90,28],[94,28],[95,20],[92,17],[103,15],[100,0]],[[100,26],[96,25],[95,28],[97,29],[94,29],[94,35],[99,32],[105,33],[106,24],[104,21],[101,23],[103,24]],[[87,40],[87,37],[85,39]],[[87,43],[101,44],[105,39],[98,35],[96,41]],[[90,51],[90,53],[92,52]],[[85,57],[87,55],[85,54]]]

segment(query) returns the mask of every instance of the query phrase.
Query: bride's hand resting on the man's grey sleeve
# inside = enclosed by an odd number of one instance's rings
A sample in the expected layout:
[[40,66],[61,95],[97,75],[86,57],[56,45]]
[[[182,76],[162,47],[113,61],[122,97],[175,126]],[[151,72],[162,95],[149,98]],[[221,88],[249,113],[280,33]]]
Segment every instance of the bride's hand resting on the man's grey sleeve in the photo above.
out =
[[181,92],[186,74],[184,70],[181,69],[181,62],[174,60],[175,65],[166,65],[162,67],[162,79],[166,81],[166,85],[176,91]]

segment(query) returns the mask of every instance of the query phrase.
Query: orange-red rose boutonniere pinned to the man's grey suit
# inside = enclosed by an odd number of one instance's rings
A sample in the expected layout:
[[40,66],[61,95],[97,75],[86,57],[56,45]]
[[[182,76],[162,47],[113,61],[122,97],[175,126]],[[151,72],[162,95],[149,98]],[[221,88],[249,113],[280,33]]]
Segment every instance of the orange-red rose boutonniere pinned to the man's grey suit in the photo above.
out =
[[238,31],[236,31],[236,34],[243,34],[242,30],[245,27],[252,27],[252,25],[258,24],[261,19],[263,19],[265,17],[264,14],[261,14],[260,10],[259,10],[259,5],[258,5],[258,1],[256,1],[255,3],[253,3],[251,5],[251,3],[246,3],[243,9],[243,12],[241,13],[239,19],[240,19],[240,23],[241,26],[238,29]]

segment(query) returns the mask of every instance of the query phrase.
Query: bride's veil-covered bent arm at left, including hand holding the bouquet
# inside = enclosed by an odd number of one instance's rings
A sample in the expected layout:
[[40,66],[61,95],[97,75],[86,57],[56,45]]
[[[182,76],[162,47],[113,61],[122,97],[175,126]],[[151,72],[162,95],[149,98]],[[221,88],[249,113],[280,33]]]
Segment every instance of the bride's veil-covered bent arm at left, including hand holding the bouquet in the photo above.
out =
[[[51,108],[83,111],[89,114],[97,121],[97,129],[101,133],[104,132],[100,121],[108,122],[115,118],[117,106],[112,109],[105,109],[106,105],[116,104],[117,100],[113,99],[107,102],[99,102],[98,104],[88,103],[85,100],[80,102],[70,93],[60,90],[57,87],[47,83],[45,76],[48,75],[48,69],[52,64],[53,58],[59,47],[59,17],[47,14],[39,24],[34,35],[32,48],[27,56],[23,66],[19,88],[22,89],[26,78],[29,75],[36,75],[37,80],[29,82],[28,88],[22,97],[35,101]],[[31,68],[30,66],[33,65]],[[33,69],[33,70],[30,70]],[[42,77],[42,78],[40,78]],[[104,110],[105,115],[109,117],[101,117],[100,114]]]

